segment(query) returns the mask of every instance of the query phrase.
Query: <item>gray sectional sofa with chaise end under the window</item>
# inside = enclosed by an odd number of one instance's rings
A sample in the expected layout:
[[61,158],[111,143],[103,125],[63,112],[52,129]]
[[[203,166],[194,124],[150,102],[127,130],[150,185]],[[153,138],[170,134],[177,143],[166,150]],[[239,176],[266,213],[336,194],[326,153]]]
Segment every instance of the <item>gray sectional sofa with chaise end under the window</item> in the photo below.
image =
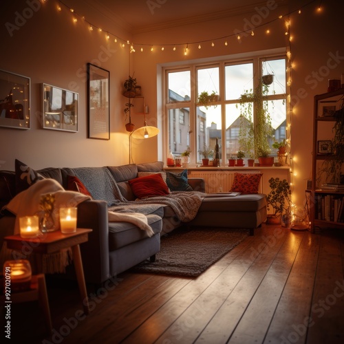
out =
[[[147,215],[154,235],[147,234],[127,222],[108,222],[108,208],[125,197],[136,204],[136,196],[129,180],[137,178],[141,172],[157,173],[163,168],[162,162],[151,164],[129,164],[124,166],[48,168],[34,171],[44,178],[57,180],[67,189],[68,175],[75,175],[92,194],[93,199],[78,205],[78,227],[92,228],[89,240],[80,246],[83,257],[85,280],[87,283],[103,283],[160,250],[160,235],[169,233],[184,224],[171,206],[139,206],[139,211]],[[17,171],[17,169],[16,169]],[[6,205],[17,193],[15,172],[0,171],[0,208]],[[189,178],[194,191],[204,192],[202,178]],[[205,194],[204,194],[205,195]],[[137,211],[137,209],[136,209]],[[2,211],[0,218],[0,244],[3,237],[12,235],[14,215]],[[253,234],[266,219],[265,195],[240,195],[237,197],[204,197],[190,226],[221,226],[226,228],[250,228]],[[69,269],[73,271],[74,269]]]

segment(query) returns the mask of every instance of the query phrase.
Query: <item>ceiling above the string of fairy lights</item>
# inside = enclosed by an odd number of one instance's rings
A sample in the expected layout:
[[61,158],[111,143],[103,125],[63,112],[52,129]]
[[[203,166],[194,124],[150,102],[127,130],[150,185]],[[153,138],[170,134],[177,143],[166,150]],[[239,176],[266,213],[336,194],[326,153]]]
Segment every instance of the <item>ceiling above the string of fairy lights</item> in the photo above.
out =
[[[132,33],[171,28],[266,6],[261,0],[85,0]],[[280,2],[288,2],[280,0]]]

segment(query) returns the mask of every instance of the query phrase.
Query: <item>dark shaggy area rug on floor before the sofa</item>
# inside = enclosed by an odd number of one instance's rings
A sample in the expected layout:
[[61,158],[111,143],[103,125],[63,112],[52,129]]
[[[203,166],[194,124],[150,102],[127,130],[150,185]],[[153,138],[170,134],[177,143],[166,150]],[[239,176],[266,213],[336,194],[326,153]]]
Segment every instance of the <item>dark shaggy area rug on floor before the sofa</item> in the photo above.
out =
[[155,262],[147,259],[131,271],[197,277],[248,235],[248,229],[181,227],[161,238]]

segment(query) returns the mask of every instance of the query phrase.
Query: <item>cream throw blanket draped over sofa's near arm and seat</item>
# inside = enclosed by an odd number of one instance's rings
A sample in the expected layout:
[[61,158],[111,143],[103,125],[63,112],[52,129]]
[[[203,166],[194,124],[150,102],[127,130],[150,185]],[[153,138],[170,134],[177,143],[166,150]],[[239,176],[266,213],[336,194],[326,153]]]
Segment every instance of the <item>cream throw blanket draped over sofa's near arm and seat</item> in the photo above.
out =
[[[53,193],[55,195],[54,203],[54,219],[56,228],[59,229],[60,217],[58,214],[59,208],[78,206],[85,200],[91,200],[91,197],[83,195],[75,191],[65,191],[61,184],[53,179],[39,180],[29,189],[22,191],[18,195],[12,198],[12,200],[6,205],[6,209],[16,215],[16,221],[14,225],[14,234],[20,233],[19,217],[36,215],[40,208],[41,195],[45,193]],[[146,215],[140,213],[115,213],[114,211],[108,212],[109,222],[131,222],[138,226],[138,228],[145,230],[147,235],[151,237],[154,233],[147,222]],[[6,241],[1,248],[1,263],[7,259],[13,259],[13,257],[20,257],[22,259],[28,259],[28,257],[22,257],[21,253],[12,252],[6,246]],[[61,252],[55,255],[43,255],[43,272],[65,272],[65,267],[70,263],[72,255],[70,250],[61,250]],[[32,259],[31,259],[32,260]],[[2,265],[1,265],[2,266]]]

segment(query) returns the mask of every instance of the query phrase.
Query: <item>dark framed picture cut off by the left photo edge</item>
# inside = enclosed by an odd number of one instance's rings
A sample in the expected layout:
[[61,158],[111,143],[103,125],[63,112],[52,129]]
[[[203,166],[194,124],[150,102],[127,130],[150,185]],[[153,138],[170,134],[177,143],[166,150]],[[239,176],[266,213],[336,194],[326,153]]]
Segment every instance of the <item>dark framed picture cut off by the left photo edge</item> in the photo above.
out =
[[0,69],[0,127],[30,129],[31,79]]

